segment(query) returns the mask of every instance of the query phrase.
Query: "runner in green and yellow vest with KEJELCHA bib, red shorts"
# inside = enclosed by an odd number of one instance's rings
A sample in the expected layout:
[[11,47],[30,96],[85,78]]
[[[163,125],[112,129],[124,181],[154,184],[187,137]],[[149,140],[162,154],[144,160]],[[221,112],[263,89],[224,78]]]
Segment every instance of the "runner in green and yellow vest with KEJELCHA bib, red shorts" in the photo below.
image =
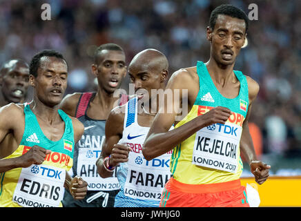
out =
[[[168,81],[166,89],[174,95],[179,90],[179,99],[174,99],[172,113],[166,113],[168,101],[159,109],[143,148],[146,160],[173,150],[173,177],[160,206],[249,206],[240,184],[240,151],[256,182],[269,177],[270,166],[257,160],[248,128],[258,83],[233,70],[248,26],[242,10],[230,5],[215,8],[206,32],[209,61],[180,69]],[[184,118],[178,118],[179,108],[187,109]],[[173,124],[175,129],[168,131]]]

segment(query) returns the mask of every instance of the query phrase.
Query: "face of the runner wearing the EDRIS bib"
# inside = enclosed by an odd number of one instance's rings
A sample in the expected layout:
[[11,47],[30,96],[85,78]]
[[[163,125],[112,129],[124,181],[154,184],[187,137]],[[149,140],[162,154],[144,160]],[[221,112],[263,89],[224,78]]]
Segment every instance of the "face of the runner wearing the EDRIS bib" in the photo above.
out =
[[57,106],[63,99],[67,87],[68,67],[64,60],[56,57],[41,57],[37,77],[30,75],[35,95],[48,106]]

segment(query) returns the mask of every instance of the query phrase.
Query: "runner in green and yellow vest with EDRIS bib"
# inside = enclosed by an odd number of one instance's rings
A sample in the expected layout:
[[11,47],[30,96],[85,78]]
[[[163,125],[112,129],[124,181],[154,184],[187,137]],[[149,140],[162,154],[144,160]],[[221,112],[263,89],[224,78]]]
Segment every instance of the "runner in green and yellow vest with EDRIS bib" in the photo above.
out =
[[8,135],[17,145],[0,149],[0,206],[61,206],[64,186],[73,197],[86,195],[87,183],[71,179],[75,143],[84,126],[58,110],[67,87],[68,66],[54,50],[39,52],[30,62],[30,104],[0,109],[0,142]]

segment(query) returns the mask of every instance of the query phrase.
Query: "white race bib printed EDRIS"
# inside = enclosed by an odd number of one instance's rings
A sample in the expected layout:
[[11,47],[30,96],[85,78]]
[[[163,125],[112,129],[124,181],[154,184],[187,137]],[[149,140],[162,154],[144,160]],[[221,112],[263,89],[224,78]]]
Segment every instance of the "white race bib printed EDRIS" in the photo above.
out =
[[66,171],[54,166],[23,168],[12,200],[24,207],[58,207],[64,197]]

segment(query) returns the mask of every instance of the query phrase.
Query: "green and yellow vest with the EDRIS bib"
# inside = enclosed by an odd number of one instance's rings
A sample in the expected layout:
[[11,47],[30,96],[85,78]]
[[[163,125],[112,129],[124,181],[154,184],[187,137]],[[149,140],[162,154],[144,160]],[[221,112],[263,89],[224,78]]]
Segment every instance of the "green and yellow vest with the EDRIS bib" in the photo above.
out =
[[72,167],[74,132],[72,120],[64,111],[58,110],[65,122],[61,140],[51,141],[41,131],[37,117],[24,104],[25,129],[19,147],[5,157],[19,157],[38,145],[52,151],[41,165],[16,168],[0,173],[0,207],[51,207],[61,206],[64,196],[66,171]]

